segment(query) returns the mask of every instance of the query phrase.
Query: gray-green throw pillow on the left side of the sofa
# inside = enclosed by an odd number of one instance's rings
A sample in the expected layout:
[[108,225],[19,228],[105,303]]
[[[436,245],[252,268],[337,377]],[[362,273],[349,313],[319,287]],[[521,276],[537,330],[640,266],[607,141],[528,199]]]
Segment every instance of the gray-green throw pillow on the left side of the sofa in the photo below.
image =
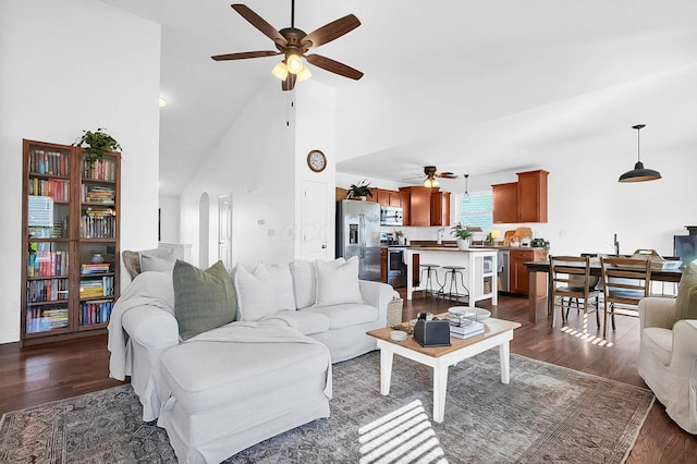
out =
[[180,259],[172,272],[174,317],[179,334],[188,340],[235,319],[236,303],[222,261],[206,270]]

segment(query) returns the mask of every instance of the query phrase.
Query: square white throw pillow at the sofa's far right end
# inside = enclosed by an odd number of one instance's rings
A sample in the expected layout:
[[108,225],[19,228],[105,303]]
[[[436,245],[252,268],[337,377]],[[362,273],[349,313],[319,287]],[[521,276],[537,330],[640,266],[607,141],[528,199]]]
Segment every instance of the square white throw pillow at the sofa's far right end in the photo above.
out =
[[358,258],[353,256],[333,261],[315,261],[317,273],[317,297],[315,307],[341,304],[362,304],[363,295],[358,284]]

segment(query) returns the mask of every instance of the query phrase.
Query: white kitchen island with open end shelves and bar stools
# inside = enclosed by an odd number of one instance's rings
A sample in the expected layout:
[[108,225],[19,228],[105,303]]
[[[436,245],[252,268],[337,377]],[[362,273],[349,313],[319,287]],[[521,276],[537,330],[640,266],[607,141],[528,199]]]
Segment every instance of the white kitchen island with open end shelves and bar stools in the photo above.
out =
[[[419,255],[420,262],[430,262],[440,266],[440,268],[435,270],[441,284],[445,282],[445,270],[442,266],[465,267],[463,277],[465,285],[469,291],[469,306],[474,306],[475,303],[480,300],[489,298],[491,298],[491,304],[494,306],[499,303],[497,288],[497,251],[494,248],[458,249],[453,246],[412,246],[404,249],[404,262],[406,264],[407,276],[414,276],[413,256],[416,254]],[[406,279],[406,300],[412,300],[414,291],[424,290],[426,278],[420,279],[419,286],[414,286],[413,279]]]

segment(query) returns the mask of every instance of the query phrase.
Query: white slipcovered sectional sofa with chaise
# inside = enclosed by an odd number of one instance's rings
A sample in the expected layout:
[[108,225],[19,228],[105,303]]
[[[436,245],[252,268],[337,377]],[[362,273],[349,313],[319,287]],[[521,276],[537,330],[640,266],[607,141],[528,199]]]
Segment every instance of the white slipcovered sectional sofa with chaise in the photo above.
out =
[[180,462],[219,462],[328,417],[331,363],[376,349],[366,331],[387,326],[394,293],[359,281],[352,259],[239,266],[225,282],[234,321],[183,337],[191,294],[179,286],[195,285],[175,285],[178,269],[144,272],[125,289],[109,349],[111,377],[131,376],[144,420],[158,418]]

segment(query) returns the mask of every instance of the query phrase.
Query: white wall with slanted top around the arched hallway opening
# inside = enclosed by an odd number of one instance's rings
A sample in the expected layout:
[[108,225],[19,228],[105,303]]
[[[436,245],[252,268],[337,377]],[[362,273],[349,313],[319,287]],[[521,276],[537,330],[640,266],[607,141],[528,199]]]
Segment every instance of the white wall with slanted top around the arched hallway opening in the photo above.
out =
[[[218,197],[232,193],[232,260],[286,262],[295,241],[294,109],[278,82],[262,81],[181,196],[181,241],[198,253],[198,200],[210,197],[209,262],[218,260]],[[289,119],[289,114],[291,118]],[[290,120],[290,125],[286,121]]]

